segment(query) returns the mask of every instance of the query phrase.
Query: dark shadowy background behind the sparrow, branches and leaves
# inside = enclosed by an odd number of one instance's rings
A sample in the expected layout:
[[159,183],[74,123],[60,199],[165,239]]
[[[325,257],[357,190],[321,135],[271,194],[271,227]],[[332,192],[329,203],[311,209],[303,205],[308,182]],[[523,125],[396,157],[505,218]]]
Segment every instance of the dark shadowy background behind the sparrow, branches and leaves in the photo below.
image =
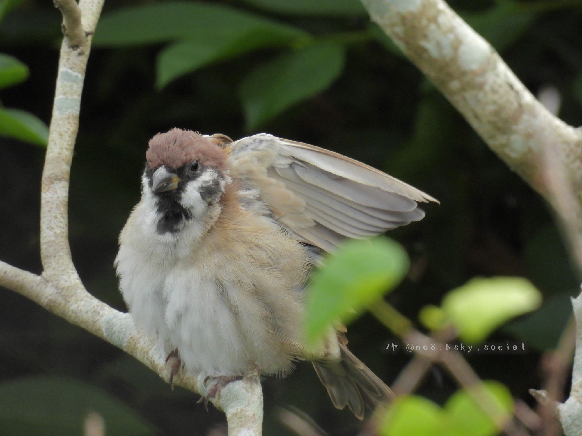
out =
[[[30,68],[29,80],[1,92],[2,104],[34,113],[47,124],[60,31],[59,13],[50,3],[24,2],[0,25],[0,52]],[[104,16],[142,3],[149,2],[106,2]],[[288,16],[243,1],[222,3],[315,35],[369,25],[364,14]],[[523,1],[517,2],[522,9],[516,18],[516,12],[499,9],[502,3],[456,0],[450,5],[476,17],[475,26],[481,26],[534,94],[544,85],[555,86],[563,99],[560,117],[580,126],[582,7],[560,0]],[[489,151],[410,62],[374,38],[346,41],[345,67],[331,87],[247,131],[237,86],[254,65],[281,49],[262,49],[203,67],[158,91],[154,62],[162,47],[95,47],[91,52],[69,214],[73,260],[93,295],[126,310],[113,259],[118,234],[139,200],[144,152],[152,135],[174,126],[232,138],[267,131],[362,160],[441,201],[440,206],[425,208],[427,216],[420,223],[389,234],[406,247],[413,266],[389,301],[410,319],[416,320],[420,308],[438,304],[446,291],[474,276],[524,276],[538,286],[544,294],[542,308],[490,338],[524,342],[526,352],[466,355],[482,378],[501,381],[514,397],[533,405],[527,389],[540,385],[540,357],[556,344],[565,326],[576,279],[545,203]],[[41,146],[0,138],[0,259],[36,273],[41,272],[38,213],[43,159]],[[348,337],[352,351],[388,383],[410,360],[407,353],[383,351],[386,344],[398,341],[371,316],[354,323]],[[224,421],[212,406],[207,413],[197,405],[197,395],[180,388],[170,391],[157,374],[112,345],[2,290],[0,434],[8,428],[5,423],[12,422],[6,405],[13,404],[13,398],[3,387],[30,376],[57,382],[67,377],[62,386],[82,382],[100,389],[132,409],[151,426],[151,434],[205,435]],[[49,391],[68,396],[59,383]],[[445,373],[434,369],[418,393],[442,403],[455,389]],[[308,363],[299,363],[285,379],[265,380],[264,392],[265,435],[283,434],[277,412],[288,405],[308,413],[332,435],[356,434],[360,427],[348,411],[333,409]],[[50,392],[34,388],[24,394],[18,401],[24,406],[30,401],[23,409],[30,413],[37,402],[51,398],[42,396]],[[50,427],[51,421],[46,425]],[[40,428],[30,427],[29,434],[50,434]]]

